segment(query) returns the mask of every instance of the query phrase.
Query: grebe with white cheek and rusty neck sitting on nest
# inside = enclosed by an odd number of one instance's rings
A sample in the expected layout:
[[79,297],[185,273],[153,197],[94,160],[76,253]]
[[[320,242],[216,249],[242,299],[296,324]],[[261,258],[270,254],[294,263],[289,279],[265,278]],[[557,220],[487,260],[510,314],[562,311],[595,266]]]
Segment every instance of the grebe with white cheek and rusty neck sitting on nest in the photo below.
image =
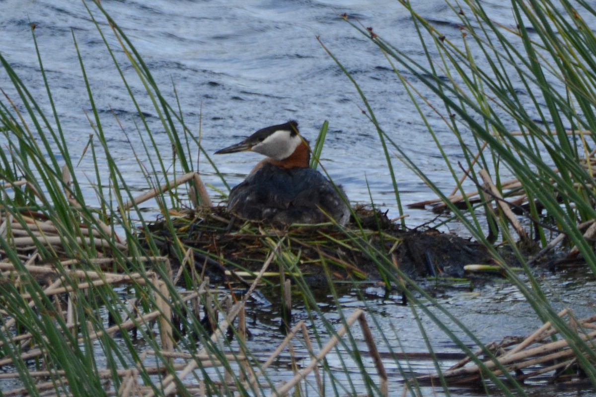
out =
[[350,217],[342,187],[309,168],[311,151],[298,123],[258,130],[215,154],[253,151],[267,156],[229,193],[228,211],[272,223],[321,223],[329,217],[344,225]]

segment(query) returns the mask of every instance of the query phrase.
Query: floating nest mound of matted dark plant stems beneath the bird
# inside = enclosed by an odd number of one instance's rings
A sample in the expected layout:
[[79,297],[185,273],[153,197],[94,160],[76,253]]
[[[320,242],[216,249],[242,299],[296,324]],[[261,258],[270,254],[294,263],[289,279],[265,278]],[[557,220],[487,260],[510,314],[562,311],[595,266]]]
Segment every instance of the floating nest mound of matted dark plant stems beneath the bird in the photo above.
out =
[[464,265],[492,262],[485,247],[469,239],[434,229],[404,230],[386,213],[364,205],[353,210],[345,229],[333,224],[279,229],[234,217],[225,207],[206,207],[170,214],[173,230],[158,219],[146,232],[174,267],[180,262],[172,242],[192,248],[197,271],[215,282],[226,280],[229,271],[259,271],[278,243],[276,261],[285,271],[299,270],[309,282],[326,282],[328,274],[336,280],[380,280],[387,257],[412,277],[462,277]]

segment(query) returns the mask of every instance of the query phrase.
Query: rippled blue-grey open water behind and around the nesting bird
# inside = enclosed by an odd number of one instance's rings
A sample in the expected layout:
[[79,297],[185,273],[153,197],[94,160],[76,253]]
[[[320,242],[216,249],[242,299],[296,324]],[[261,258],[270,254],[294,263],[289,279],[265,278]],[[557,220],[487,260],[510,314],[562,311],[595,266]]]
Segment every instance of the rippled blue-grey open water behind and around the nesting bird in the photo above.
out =
[[[457,18],[449,12],[443,0],[419,0],[416,3],[420,14],[432,20],[444,35],[461,36]],[[483,3],[496,21],[514,24],[505,2]],[[101,14],[91,2],[87,4],[102,24],[110,45],[118,48]],[[201,144],[208,153],[237,142],[262,127],[288,119],[298,120],[302,135],[312,140],[321,124],[328,120],[330,129],[322,164],[330,176],[344,186],[352,201],[370,202],[372,196],[377,205],[389,210],[390,216],[399,215],[377,132],[367,115],[362,113],[364,104],[355,87],[324,51],[316,39],[319,37],[355,77],[388,135],[443,191],[451,192],[455,185],[391,65],[367,37],[340,16],[347,13],[350,21],[373,27],[374,32],[398,45],[401,51],[424,60],[409,12],[399,2],[103,0],[102,4],[132,40],[172,104],[176,103],[175,86],[184,119],[195,135],[200,130]],[[148,182],[138,165],[138,161],[147,161],[135,127],[139,118],[83,2],[0,0],[0,52],[42,108],[48,111],[29,23],[36,24],[35,35],[49,85],[75,162],[82,157],[89,135],[95,132],[87,120],[88,115],[92,118],[91,105],[73,36],[94,93],[95,106],[100,110],[111,155],[131,189],[139,193],[146,190]],[[126,65],[123,54],[116,51],[116,55]],[[131,79],[132,89],[142,110],[147,112],[149,123],[159,131],[161,127],[155,110],[143,95],[134,70],[125,66],[123,71]],[[408,77],[408,73],[405,76]],[[0,87],[11,97],[16,97],[4,72],[0,72]],[[428,94],[424,87],[417,87],[423,95]],[[445,138],[442,143],[450,160],[457,161],[461,157],[460,146],[454,142],[440,115],[431,108],[424,108],[423,112],[439,137]],[[163,148],[167,164],[171,161],[167,160],[171,158],[167,149],[169,139],[165,133],[158,133],[156,139]],[[390,149],[390,152],[403,204],[434,198],[430,189],[402,164],[395,150]],[[242,153],[214,156],[212,160],[228,183],[235,185],[260,156]],[[212,167],[202,158],[198,169],[204,182],[218,189],[224,188]],[[95,174],[89,155],[83,157],[76,171],[92,202]],[[216,202],[220,199],[215,191],[212,197]],[[406,213],[411,215],[407,220],[409,226],[417,226],[432,218],[427,211],[406,209]],[[545,277],[548,281],[548,275]],[[560,288],[557,281],[552,279],[550,292],[560,299],[561,304],[577,305],[578,317],[593,313],[594,296],[589,292],[593,280],[589,280],[590,286],[579,295]],[[390,343],[395,342],[393,347],[399,350],[397,345],[403,343],[409,351],[424,351],[423,340],[409,308],[388,304],[374,297],[374,292],[371,296],[369,304],[380,314],[384,313],[387,324],[390,324],[391,330],[387,331],[386,337]],[[532,311],[519,293],[501,283],[471,295],[446,296],[444,301],[451,304],[455,314],[476,335],[482,335],[485,342],[530,333],[538,326],[535,316],[526,317]],[[362,306],[359,298],[352,295],[344,296],[342,304]],[[300,316],[300,312],[297,315]],[[275,316],[277,314],[272,314]],[[260,343],[270,348],[271,339],[279,337],[272,330],[276,326],[267,321],[263,315],[252,325],[257,349]],[[432,329],[429,319],[423,321]],[[442,348],[454,348],[438,331],[431,338]],[[281,378],[287,379],[287,375],[282,371]],[[392,390],[401,390],[401,385],[394,383]]]

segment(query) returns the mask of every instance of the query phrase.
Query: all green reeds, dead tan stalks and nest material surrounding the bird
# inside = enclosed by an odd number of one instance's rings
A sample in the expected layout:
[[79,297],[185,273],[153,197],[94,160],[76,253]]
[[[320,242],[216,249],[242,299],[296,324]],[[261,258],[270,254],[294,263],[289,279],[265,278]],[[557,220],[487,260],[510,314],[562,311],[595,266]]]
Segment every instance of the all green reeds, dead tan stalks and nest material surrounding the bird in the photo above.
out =
[[[386,58],[386,78],[403,84],[419,112],[411,117],[426,125],[454,190],[440,189],[418,166],[420,159],[387,133],[358,76],[343,66],[341,51],[321,40],[377,132],[399,216],[390,220],[371,204],[355,208],[349,227],[330,222],[281,230],[211,207],[211,199],[226,192],[201,180],[197,152],[200,164],[217,168],[200,133],[185,122],[175,90],[163,94],[117,18],[99,3],[83,4],[136,110],[127,126],[117,111],[110,117],[126,140],[130,131],[136,135],[139,145],[129,155],[146,189],[132,189],[111,154],[105,115],[94,105],[86,74],[94,60],[82,56],[84,44],[74,33],[90,109],[82,157],[91,158],[92,175],[77,173],[78,154],[56,111],[61,98],[52,95],[38,46],[44,90],[36,92],[0,52],[0,81],[11,92],[0,86],[4,395],[450,395],[457,382],[480,385],[473,389],[479,395],[528,395],[523,382],[529,378],[534,385],[596,386],[595,318],[561,310],[536,271],[565,273],[573,264],[581,268],[580,284],[596,274],[596,36],[586,22],[596,10],[588,2],[511,0],[510,24],[493,20],[483,2],[448,3],[460,32],[449,37],[404,1],[425,62],[384,40],[374,26],[343,15],[346,29],[367,39],[367,51]],[[35,29],[32,24],[33,43]],[[477,67],[481,58],[488,67]],[[420,87],[432,95],[421,95]],[[325,141],[322,125],[315,159]],[[166,135],[171,146],[160,145],[157,135]],[[459,145],[457,161],[445,145]],[[451,248],[437,240],[428,244],[439,250],[412,254],[424,251],[415,243],[437,232],[406,228],[396,160],[436,195],[416,205],[434,206],[448,214],[443,224],[457,222],[472,237],[458,237],[463,274],[449,274],[440,251]],[[324,161],[319,167],[324,170]],[[92,186],[94,204],[82,186]],[[150,216],[147,202],[156,208]],[[528,305],[524,316],[537,323],[536,333],[486,343],[437,299],[443,289],[474,288],[475,276],[464,265],[479,263],[462,259],[474,250],[482,256],[473,261],[482,258],[490,277]],[[405,268],[406,259],[414,271]],[[340,304],[346,285],[359,298],[356,308]],[[424,351],[403,346],[394,324],[367,303],[377,302],[370,288],[383,290],[381,301],[408,310]],[[252,299],[260,299],[261,289],[284,296],[274,316],[284,335],[279,343],[251,339],[250,317],[259,311]],[[296,305],[302,318],[292,319]],[[437,349],[432,333],[446,335],[451,349]],[[422,370],[421,358],[430,362]],[[288,370],[272,370],[276,362]]]

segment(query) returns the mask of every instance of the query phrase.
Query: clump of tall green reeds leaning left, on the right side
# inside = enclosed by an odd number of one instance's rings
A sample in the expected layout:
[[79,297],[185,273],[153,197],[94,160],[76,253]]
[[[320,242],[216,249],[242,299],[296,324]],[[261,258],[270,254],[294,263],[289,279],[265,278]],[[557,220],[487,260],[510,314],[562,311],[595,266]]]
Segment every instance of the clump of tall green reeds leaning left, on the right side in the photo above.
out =
[[[594,8],[587,2],[513,0],[513,20],[505,25],[492,20],[480,1],[446,2],[459,25],[460,35],[453,37],[421,17],[416,4],[402,4],[411,12],[425,64],[401,51],[399,43],[384,40],[383,32],[364,27],[349,15],[344,18],[378,47],[416,104],[451,170],[456,186],[452,193],[442,192],[384,131],[356,79],[334,59],[356,86],[381,141],[433,189],[443,208],[491,250],[536,314],[552,321],[576,352],[584,352],[578,360],[596,385],[593,346],[561,321],[530,268],[530,263],[566,240],[567,250],[573,247],[569,255],[581,254],[583,263],[596,274],[593,231],[586,230],[595,215],[596,80],[592,71],[596,36],[585,18],[594,16]],[[434,98],[421,95],[420,86]],[[429,109],[444,121],[441,131],[451,131],[449,143],[460,143],[464,164],[445,155],[442,146],[448,142],[440,139],[440,127],[427,122]],[[387,155],[389,167],[391,160]],[[505,182],[504,176],[515,179]],[[462,183],[466,178],[476,185],[474,194],[480,200],[470,199],[473,195]],[[457,191],[461,194],[455,195]],[[456,205],[458,201],[464,205]],[[523,277],[510,271],[493,245],[499,232],[524,266]],[[551,232],[556,235],[548,241]],[[528,245],[542,248],[531,260]]]

